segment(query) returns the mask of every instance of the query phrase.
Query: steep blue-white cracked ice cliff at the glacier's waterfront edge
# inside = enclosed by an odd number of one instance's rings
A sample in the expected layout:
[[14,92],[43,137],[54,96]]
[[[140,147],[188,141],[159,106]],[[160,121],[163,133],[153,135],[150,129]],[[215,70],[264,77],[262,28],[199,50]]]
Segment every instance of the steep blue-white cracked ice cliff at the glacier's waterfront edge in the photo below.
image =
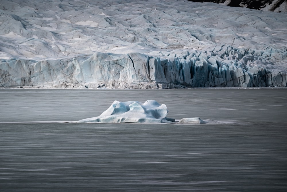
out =
[[[183,88],[286,87],[285,50],[213,51],[172,54],[96,52],[54,60],[0,60],[1,88]],[[276,62],[276,65],[274,63]]]

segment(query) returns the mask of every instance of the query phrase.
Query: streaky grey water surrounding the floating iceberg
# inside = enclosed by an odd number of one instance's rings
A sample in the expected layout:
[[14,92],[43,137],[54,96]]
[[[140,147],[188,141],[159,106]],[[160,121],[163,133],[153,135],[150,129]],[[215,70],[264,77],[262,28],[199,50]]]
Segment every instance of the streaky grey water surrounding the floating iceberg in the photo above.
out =
[[[0,90],[0,191],[287,191],[287,89]],[[65,123],[114,100],[221,124]]]

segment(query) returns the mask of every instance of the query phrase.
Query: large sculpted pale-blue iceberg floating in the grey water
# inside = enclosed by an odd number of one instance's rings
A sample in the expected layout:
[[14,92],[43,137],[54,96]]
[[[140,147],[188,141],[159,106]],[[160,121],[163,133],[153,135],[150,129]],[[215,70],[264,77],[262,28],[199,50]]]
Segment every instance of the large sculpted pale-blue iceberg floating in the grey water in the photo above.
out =
[[168,110],[165,104],[155,100],[144,103],[138,101],[114,101],[111,106],[98,117],[82,119],[76,123],[172,123],[175,120],[166,118]]

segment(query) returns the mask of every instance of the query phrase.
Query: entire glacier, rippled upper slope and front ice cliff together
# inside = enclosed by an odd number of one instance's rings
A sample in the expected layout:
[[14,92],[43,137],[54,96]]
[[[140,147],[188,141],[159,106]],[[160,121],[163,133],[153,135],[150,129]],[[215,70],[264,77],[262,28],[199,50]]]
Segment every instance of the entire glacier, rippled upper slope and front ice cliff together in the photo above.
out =
[[287,16],[185,0],[0,3],[1,87],[286,86]]

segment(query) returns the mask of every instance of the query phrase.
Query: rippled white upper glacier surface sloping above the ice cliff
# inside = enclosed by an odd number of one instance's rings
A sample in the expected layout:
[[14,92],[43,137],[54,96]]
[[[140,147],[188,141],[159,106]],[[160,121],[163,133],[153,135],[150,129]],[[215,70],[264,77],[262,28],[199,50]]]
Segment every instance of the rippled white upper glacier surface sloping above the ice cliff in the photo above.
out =
[[[3,0],[0,16],[0,58],[127,53],[135,46],[146,54],[215,45],[258,49],[286,39],[285,31],[278,30],[286,28],[286,13],[185,0]],[[276,31],[276,38],[266,27]],[[113,49],[117,46],[127,50]]]

